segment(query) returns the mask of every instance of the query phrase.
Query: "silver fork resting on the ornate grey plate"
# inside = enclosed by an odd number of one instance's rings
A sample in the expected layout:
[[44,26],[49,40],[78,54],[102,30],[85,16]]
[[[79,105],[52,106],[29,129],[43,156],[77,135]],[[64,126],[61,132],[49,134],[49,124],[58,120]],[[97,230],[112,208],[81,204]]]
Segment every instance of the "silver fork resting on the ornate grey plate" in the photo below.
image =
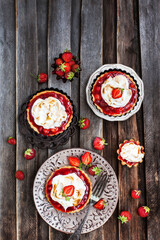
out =
[[83,218],[82,222],[80,223],[80,225],[78,226],[78,228],[75,230],[75,232],[70,236],[70,238],[68,240],[73,240],[73,239],[79,240],[80,239],[82,228],[87,219],[87,216],[91,209],[91,206],[93,206],[100,199],[100,197],[106,187],[108,179],[109,179],[109,177],[108,177],[107,173],[105,173],[105,174],[101,173],[99,175],[99,177],[97,178],[97,180],[93,186],[93,189],[92,189],[92,195],[91,195],[91,198],[89,201],[89,206],[88,206],[86,215],[84,216],[84,218]]

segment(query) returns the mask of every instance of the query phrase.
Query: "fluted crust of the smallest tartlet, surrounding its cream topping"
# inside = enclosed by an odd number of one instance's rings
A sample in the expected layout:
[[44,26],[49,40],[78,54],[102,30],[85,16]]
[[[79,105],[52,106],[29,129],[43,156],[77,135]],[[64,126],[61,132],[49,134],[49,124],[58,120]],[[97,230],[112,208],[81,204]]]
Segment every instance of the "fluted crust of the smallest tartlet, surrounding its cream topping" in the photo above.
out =
[[[121,161],[121,164],[122,164],[122,165],[127,165],[127,167],[129,167],[129,168],[131,168],[132,166],[137,167],[139,163],[142,163],[142,162],[143,162],[143,158],[142,158],[141,161],[139,161],[139,162],[134,162],[134,163],[133,163],[133,162],[128,162],[127,160],[123,159],[123,158],[121,157],[121,155],[120,155],[121,147],[122,147],[125,143],[129,143],[129,142],[133,142],[133,143],[135,143],[135,144],[137,144],[137,145],[140,145],[140,142],[139,142],[139,141],[134,141],[134,139],[130,139],[129,141],[128,141],[128,140],[124,140],[123,143],[120,143],[120,144],[119,144],[119,149],[117,150],[118,160]],[[144,147],[143,147],[143,146],[141,146],[141,150],[142,150],[142,153],[145,155],[145,152],[143,151],[143,150],[144,150]]]

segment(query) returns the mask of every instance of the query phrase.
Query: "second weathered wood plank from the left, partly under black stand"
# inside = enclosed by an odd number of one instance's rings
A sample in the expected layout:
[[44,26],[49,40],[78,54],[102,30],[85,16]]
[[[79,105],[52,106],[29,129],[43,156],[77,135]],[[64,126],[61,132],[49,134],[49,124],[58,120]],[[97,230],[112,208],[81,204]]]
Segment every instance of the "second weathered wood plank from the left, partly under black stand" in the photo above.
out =
[[20,134],[18,115],[26,98],[38,90],[38,83],[30,77],[37,72],[37,11],[36,1],[16,1],[16,111],[17,111],[17,169],[25,173],[24,181],[16,185],[17,238],[38,239],[37,211],[33,202],[33,181],[37,159],[26,161],[24,150],[29,147]]

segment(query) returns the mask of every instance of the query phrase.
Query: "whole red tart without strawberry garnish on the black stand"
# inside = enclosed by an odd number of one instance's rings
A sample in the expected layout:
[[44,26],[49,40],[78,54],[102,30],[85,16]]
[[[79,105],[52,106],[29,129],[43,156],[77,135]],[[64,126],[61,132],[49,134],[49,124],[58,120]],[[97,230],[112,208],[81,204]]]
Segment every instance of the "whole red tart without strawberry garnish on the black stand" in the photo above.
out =
[[65,94],[55,90],[37,93],[27,107],[27,121],[38,134],[54,136],[72,122],[73,106]]

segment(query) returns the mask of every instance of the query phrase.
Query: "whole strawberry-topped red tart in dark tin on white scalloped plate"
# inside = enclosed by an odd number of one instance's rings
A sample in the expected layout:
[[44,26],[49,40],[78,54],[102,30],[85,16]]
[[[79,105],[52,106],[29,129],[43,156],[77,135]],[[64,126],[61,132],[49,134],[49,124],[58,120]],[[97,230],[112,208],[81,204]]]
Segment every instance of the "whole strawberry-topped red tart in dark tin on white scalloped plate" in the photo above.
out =
[[105,115],[122,116],[138,100],[134,78],[120,70],[109,70],[97,77],[92,88],[92,101]]

